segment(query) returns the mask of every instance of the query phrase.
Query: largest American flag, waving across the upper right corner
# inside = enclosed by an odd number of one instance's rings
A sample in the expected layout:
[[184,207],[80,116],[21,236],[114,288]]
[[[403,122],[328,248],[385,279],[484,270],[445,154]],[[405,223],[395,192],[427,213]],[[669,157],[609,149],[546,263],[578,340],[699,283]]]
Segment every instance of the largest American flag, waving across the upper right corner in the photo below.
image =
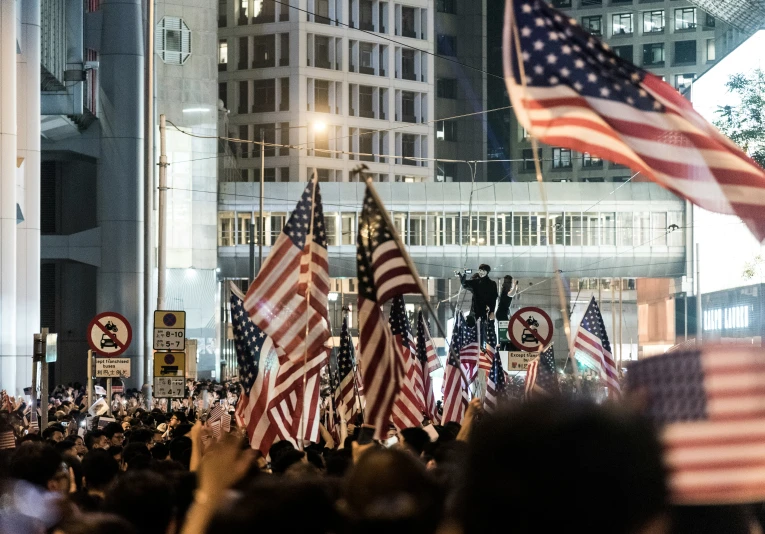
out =
[[626,165],[765,238],[765,172],[672,87],[542,0],[507,2],[503,49],[529,134]]

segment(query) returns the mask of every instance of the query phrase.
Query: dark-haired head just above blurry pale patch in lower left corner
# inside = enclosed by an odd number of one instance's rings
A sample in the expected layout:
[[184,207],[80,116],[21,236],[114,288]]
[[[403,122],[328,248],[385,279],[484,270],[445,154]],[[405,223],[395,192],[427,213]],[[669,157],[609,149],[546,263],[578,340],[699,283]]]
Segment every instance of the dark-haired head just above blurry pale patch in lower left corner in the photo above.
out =
[[64,493],[69,489],[69,466],[47,443],[22,443],[11,458],[9,473],[49,491]]

